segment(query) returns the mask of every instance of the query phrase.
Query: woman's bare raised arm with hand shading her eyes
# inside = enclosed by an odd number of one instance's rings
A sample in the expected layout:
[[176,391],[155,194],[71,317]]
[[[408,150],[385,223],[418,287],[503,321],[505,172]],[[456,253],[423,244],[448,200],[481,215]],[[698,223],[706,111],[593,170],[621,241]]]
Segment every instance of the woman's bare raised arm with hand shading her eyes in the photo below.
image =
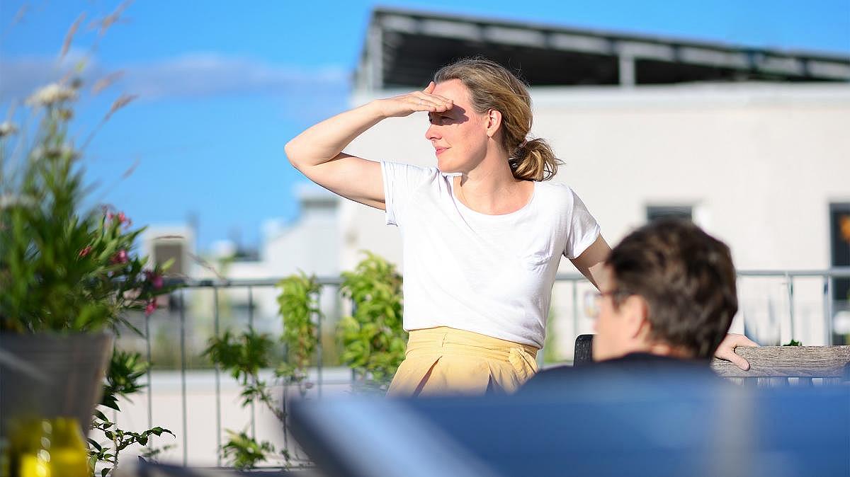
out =
[[451,109],[452,101],[431,94],[433,88],[432,82],[422,91],[377,99],[321,121],[286,143],[286,157],[304,176],[334,194],[384,210],[381,165],[342,151],[383,119]]

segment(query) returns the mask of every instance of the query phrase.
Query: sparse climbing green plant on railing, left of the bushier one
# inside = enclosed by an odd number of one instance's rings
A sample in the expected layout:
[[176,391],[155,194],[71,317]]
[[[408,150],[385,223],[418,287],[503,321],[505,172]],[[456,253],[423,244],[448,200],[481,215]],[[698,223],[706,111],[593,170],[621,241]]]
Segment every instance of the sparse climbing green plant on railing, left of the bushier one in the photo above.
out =
[[[260,401],[280,421],[284,429],[284,445],[280,456],[288,464],[293,457],[288,441],[287,392],[291,384],[297,384],[299,393],[304,396],[311,386],[307,381],[307,368],[319,343],[316,323],[321,319],[321,286],[315,277],[308,277],[303,272],[280,280],[277,286],[280,289],[280,316],[284,324],[280,340],[286,345],[285,359],[275,368],[274,384],[283,384],[284,390],[281,407],[272,400],[269,383],[259,377],[260,369],[269,368],[273,360],[275,342],[269,334],[258,334],[252,328],[239,335],[225,330],[224,334],[209,341],[204,355],[239,381],[242,386],[242,407]],[[221,451],[237,469],[255,468],[275,453],[275,446],[269,441],[257,441],[244,430],[225,430],[228,440]]]

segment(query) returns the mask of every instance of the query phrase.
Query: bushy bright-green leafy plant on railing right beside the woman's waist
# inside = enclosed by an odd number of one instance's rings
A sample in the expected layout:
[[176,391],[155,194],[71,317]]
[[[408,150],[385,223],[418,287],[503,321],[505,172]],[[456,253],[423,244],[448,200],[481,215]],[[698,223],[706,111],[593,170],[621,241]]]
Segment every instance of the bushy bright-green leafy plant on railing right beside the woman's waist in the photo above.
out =
[[382,257],[365,252],[354,268],[343,272],[344,296],[354,303],[352,314],[340,320],[343,362],[361,383],[386,389],[405,359],[407,333],[402,323],[401,276]]

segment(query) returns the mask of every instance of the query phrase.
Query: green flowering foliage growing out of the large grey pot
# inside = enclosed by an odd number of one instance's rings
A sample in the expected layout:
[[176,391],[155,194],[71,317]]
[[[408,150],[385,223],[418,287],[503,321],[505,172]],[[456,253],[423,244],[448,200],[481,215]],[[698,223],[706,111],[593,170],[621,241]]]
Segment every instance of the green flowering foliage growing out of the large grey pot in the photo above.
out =
[[[93,332],[150,314],[169,293],[162,273],[133,253],[144,228],[122,212],[87,206],[82,149],[69,128],[81,81],[43,87],[27,101],[40,118],[35,137],[0,136],[0,330]],[[132,97],[116,99],[107,121]],[[103,122],[103,121],[102,121]],[[11,137],[16,137],[12,141]],[[24,151],[23,157],[16,151]],[[14,157],[13,157],[14,156]]]

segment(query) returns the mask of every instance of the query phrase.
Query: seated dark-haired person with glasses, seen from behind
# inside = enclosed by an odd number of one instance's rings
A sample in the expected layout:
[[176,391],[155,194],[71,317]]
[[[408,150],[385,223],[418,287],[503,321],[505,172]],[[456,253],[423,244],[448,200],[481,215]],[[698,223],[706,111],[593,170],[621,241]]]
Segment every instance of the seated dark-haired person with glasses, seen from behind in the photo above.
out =
[[612,377],[660,383],[683,372],[719,379],[709,362],[738,311],[728,246],[693,222],[660,219],[627,235],[604,263],[604,286],[585,297],[596,318],[594,362],[549,368],[524,391]]

